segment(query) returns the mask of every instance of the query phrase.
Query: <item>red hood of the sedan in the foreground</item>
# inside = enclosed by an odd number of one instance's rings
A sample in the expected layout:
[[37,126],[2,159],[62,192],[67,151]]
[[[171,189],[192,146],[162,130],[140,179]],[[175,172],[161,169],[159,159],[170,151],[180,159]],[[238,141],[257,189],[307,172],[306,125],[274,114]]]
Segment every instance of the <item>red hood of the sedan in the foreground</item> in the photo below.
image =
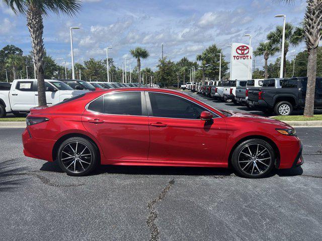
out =
[[265,117],[265,116],[250,114],[245,112],[239,112],[239,111],[230,111],[230,110],[223,110],[223,111],[230,113],[231,117],[237,117],[237,118],[243,119],[243,121],[245,122],[272,124],[272,125],[277,125],[279,127],[282,126],[282,128],[287,128],[287,129],[292,128],[290,125],[270,117]]

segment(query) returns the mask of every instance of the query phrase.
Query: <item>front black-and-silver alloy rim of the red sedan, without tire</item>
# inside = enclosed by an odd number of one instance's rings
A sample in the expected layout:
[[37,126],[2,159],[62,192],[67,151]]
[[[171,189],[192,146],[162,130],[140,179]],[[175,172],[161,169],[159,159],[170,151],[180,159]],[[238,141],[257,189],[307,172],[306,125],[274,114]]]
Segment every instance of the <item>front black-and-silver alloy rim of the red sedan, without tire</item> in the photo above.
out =
[[238,165],[246,174],[257,176],[264,173],[271,165],[269,150],[261,144],[245,146],[238,154]]

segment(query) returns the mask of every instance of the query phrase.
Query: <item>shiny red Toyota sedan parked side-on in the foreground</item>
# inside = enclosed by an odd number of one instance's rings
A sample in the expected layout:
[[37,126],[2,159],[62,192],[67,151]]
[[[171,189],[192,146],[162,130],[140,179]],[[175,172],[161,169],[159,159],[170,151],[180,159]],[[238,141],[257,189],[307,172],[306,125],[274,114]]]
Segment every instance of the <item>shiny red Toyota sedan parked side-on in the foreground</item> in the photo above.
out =
[[27,157],[57,161],[75,176],[112,164],[231,166],[256,178],[303,163],[301,141],[287,124],[167,89],[97,90],[32,108],[22,138]]

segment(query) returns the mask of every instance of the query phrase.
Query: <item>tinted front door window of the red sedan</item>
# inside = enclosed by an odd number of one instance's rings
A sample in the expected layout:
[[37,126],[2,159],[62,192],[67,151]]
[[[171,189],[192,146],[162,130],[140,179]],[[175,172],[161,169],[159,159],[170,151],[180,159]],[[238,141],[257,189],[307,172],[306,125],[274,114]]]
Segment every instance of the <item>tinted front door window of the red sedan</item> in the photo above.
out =
[[202,111],[207,109],[179,96],[149,92],[152,116],[200,119]]

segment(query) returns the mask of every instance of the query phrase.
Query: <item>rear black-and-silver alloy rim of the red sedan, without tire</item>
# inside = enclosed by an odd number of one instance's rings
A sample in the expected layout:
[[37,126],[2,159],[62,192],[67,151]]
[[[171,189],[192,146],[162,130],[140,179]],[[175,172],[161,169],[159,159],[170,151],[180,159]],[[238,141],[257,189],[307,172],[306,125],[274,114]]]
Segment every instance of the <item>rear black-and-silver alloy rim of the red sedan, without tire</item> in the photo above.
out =
[[84,143],[70,142],[62,148],[60,160],[67,170],[79,173],[86,171],[91,166],[93,154]]

